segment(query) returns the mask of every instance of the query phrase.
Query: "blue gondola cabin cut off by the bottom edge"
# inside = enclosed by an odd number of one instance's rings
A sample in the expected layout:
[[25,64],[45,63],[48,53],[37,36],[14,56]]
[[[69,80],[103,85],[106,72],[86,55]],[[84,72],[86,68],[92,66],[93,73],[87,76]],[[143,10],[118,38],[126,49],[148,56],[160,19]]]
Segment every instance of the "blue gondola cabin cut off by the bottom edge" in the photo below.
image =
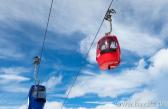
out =
[[28,100],[28,109],[43,109],[46,102],[46,88],[42,85],[32,85]]

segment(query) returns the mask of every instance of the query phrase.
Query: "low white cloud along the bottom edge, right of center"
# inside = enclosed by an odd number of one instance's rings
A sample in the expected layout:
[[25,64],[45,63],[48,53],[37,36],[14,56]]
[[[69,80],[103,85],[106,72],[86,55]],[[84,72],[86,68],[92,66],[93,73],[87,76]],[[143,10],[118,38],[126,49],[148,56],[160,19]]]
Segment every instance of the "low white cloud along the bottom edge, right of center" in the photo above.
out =
[[156,95],[152,91],[144,90],[134,94],[129,100],[99,105],[95,109],[158,109],[157,106],[150,105],[150,102],[156,100]]

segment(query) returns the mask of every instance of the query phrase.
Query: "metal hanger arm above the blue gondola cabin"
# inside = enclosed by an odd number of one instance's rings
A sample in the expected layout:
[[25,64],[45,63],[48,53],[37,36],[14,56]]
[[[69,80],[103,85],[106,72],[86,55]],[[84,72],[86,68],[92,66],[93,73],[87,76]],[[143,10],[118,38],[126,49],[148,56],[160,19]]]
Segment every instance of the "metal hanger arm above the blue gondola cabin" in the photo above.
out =
[[34,57],[34,80],[35,80],[35,85],[39,84],[39,80],[38,80],[38,67],[40,64],[40,57],[35,56]]

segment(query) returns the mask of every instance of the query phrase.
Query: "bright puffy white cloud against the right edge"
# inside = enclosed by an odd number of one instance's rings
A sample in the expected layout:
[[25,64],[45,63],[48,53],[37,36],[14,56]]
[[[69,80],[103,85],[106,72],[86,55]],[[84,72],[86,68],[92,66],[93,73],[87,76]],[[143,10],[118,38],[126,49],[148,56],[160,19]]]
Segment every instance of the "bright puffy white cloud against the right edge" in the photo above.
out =
[[151,58],[153,62],[151,68],[149,69],[152,73],[151,75],[156,79],[153,81],[152,87],[159,96],[160,100],[167,100],[168,88],[166,84],[168,82],[168,49],[160,50],[155,56]]

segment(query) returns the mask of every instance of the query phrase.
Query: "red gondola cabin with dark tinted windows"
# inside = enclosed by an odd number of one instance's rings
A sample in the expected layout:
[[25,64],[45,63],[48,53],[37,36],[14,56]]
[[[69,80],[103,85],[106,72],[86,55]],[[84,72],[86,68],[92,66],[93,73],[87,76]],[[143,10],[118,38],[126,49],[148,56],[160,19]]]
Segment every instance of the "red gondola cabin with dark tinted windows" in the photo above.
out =
[[105,35],[98,41],[96,61],[101,70],[113,69],[120,63],[120,45],[116,36]]

